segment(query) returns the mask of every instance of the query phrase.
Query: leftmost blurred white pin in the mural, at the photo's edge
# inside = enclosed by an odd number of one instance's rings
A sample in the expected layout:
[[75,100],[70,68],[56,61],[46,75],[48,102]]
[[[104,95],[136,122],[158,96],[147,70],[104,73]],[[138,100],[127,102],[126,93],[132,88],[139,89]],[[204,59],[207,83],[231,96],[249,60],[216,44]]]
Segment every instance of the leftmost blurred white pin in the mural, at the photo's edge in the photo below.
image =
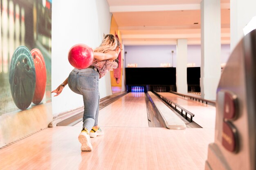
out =
[[2,70],[4,73],[8,72],[8,13],[7,13],[7,0],[2,0]]

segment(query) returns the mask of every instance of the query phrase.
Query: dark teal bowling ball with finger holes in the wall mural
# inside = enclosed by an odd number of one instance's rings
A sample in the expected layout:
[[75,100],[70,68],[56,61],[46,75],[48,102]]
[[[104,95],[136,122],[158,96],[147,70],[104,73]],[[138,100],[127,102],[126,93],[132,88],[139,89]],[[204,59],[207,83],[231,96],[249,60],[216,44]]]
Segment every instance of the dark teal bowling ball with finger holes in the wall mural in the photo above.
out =
[[29,49],[19,46],[11,57],[9,83],[11,96],[20,110],[32,102],[36,88],[36,69]]

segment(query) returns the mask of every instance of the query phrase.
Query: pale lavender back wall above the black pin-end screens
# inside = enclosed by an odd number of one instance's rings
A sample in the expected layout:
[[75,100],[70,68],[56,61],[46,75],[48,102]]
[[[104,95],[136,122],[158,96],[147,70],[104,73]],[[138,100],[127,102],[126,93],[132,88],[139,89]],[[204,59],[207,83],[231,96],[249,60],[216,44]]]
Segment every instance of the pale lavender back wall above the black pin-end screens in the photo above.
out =
[[[170,63],[176,67],[176,45],[162,46],[124,46],[126,55],[124,63],[137,64],[137,67],[160,67],[161,63]],[[227,62],[230,55],[230,45],[221,45],[221,63]],[[188,63],[195,63],[196,67],[201,66],[201,46],[188,45]]]

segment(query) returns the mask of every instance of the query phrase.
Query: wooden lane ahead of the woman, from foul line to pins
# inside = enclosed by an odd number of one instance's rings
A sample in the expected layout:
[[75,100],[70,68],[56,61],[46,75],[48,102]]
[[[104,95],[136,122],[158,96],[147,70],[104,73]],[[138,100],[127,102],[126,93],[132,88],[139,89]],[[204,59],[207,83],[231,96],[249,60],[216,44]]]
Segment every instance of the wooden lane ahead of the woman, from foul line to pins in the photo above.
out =
[[[145,93],[128,93],[99,110],[98,124],[105,127],[148,127]],[[83,122],[75,126],[82,127]]]

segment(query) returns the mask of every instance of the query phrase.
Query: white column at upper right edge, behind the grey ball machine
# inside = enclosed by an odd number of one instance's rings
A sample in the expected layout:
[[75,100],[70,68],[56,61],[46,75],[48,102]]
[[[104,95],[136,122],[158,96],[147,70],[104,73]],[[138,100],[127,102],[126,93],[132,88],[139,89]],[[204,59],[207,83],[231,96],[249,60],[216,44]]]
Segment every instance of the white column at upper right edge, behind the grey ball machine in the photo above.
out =
[[244,37],[243,28],[256,16],[256,0],[230,0],[230,50]]

